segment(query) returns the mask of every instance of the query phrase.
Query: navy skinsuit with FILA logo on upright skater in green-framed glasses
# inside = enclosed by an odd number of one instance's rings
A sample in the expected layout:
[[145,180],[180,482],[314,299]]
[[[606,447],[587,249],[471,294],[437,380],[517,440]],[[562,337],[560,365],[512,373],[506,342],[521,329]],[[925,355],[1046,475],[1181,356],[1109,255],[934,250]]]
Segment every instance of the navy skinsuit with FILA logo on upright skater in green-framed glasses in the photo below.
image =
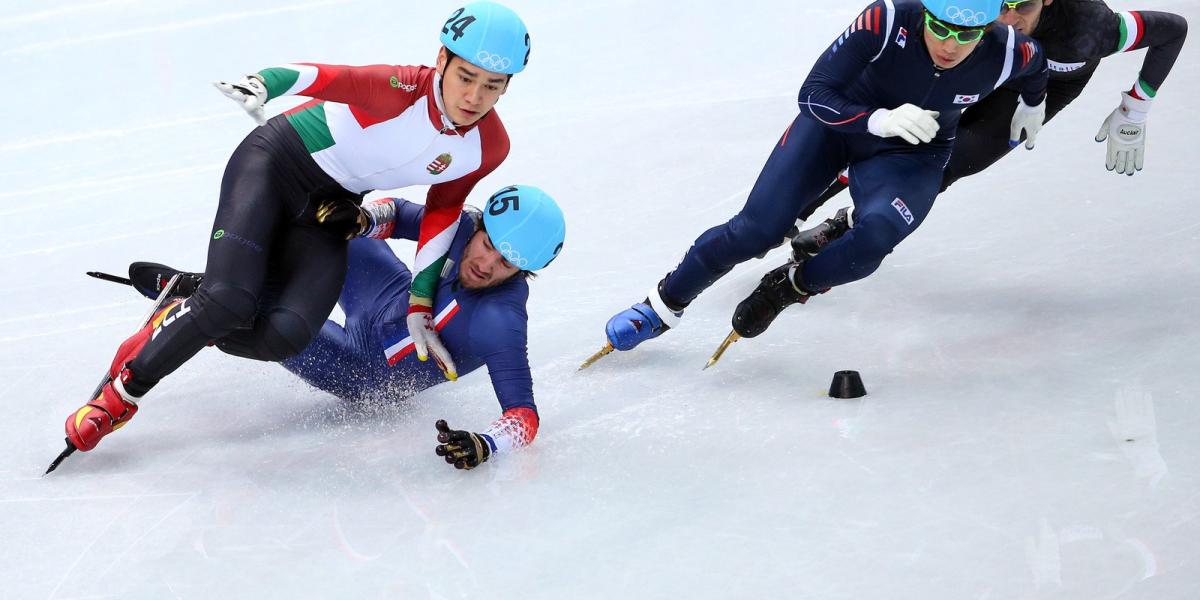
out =
[[[1037,42],[992,28],[962,62],[940,71],[924,43],[920,1],[872,2],[812,67],[800,88],[800,114],[742,212],[696,240],[664,280],[664,300],[682,308],[734,265],[778,244],[846,164],[853,228],[810,259],[802,278],[820,290],[866,277],[932,208],[961,110],[1007,82],[1026,104],[1042,103],[1046,62]],[[905,103],[941,113],[931,143],[868,132],[872,112]]]

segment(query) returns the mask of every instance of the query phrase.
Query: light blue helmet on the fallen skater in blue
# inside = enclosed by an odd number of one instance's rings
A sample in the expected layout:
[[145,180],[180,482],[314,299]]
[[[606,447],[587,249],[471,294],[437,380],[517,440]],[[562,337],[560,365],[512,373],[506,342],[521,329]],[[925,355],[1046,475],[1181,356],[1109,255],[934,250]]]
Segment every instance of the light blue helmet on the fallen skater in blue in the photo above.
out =
[[484,229],[505,260],[522,271],[536,271],[562,252],[566,221],[546,192],[509,186],[487,199]]

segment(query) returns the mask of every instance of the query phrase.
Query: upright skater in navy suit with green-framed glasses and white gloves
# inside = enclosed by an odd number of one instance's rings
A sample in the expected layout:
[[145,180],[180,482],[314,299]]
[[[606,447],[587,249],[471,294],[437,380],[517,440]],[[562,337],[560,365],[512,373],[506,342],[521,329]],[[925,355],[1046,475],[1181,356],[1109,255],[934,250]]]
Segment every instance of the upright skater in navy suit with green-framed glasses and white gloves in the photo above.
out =
[[768,274],[749,310],[736,311],[734,331],[752,337],[785,306],[871,275],[929,215],[962,109],[1004,84],[1019,91],[1009,139],[1032,149],[1046,61],[1032,38],[991,25],[998,12],[991,0],[870,4],[817,59],[800,114],[742,211],[701,234],[644,301],[608,320],[611,347],[628,350],[676,326],[718,278],[776,245],[847,164],[853,212],[811,236],[818,247],[803,259]]

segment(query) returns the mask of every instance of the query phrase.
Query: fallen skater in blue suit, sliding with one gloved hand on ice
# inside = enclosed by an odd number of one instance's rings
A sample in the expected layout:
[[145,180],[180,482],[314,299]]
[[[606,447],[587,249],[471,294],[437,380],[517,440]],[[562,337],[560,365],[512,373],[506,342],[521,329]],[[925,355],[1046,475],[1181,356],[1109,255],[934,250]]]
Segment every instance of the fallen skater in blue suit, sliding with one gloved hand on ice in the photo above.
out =
[[[425,208],[394,198],[337,208],[353,217],[353,233],[361,236],[349,245],[338,298],[346,324],[325,322],[301,354],[283,361],[284,368],[346,400],[403,398],[445,382],[444,365],[426,360],[408,330],[412,271],[382,239],[415,241]],[[438,455],[457,468],[523,448],[538,434],[527,280],[558,256],[564,235],[562,210],[532,186],[505,187],[482,214],[464,211],[458,218],[433,306],[432,326],[444,352],[427,355],[449,354],[462,374],[486,366],[502,415],[481,433],[454,431],[438,421]]]

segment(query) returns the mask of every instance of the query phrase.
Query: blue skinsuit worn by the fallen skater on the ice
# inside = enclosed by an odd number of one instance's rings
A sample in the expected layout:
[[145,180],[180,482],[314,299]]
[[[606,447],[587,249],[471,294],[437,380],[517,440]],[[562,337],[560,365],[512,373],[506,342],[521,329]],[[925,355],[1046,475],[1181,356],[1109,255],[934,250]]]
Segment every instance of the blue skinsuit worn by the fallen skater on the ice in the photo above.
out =
[[[392,238],[416,240],[425,208],[403,199],[392,202]],[[433,313],[438,316],[439,335],[460,374],[487,365],[504,410],[536,410],[526,346],[529,286],[521,277],[480,290],[458,283],[458,264],[476,229],[475,217],[464,212],[450,245],[452,263],[438,278]],[[304,353],[283,362],[284,368],[347,400],[408,397],[445,382],[434,361],[419,361],[406,342],[408,288],[413,281],[408,266],[384,240],[358,239],[350,242],[348,268],[338,299],[346,326],[326,320]],[[389,354],[394,365],[389,365]]]

